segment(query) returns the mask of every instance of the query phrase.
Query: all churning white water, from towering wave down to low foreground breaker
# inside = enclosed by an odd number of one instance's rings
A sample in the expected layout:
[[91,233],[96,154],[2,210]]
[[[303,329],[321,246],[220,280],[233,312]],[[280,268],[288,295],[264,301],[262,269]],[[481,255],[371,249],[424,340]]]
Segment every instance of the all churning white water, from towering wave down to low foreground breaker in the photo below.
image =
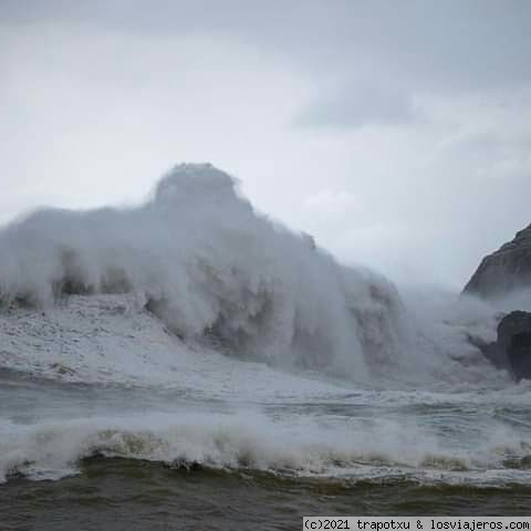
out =
[[211,165],[176,166],[139,206],[8,225],[0,304],[6,488],[83,477],[91,459],[531,485],[531,384],[470,341],[496,337],[507,301],[399,292]]

